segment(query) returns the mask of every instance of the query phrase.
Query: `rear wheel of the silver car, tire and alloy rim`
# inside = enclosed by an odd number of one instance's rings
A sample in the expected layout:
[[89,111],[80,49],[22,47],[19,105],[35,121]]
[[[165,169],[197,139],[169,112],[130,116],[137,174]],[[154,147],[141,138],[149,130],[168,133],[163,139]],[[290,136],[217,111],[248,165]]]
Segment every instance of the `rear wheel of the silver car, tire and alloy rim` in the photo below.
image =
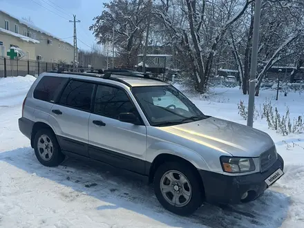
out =
[[37,159],[46,167],[57,167],[66,158],[66,155],[61,152],[55,134],[50,129],[37,131],[34,138],[34,149]]

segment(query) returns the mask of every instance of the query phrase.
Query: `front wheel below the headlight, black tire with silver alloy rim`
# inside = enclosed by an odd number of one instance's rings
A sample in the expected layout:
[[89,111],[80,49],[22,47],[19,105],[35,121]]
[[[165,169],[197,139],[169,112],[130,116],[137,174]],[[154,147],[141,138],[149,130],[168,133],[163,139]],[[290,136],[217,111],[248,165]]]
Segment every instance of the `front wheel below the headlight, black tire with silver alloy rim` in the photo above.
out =
[[[183,175],[184,178],[180,179],[178,184],[175,184],[176,182],[174,182],[174,180],[177,180],[178,176],[180,175]],[[171,177],[173,182],[171,182],[168,177]],[[184,181],[186,181],[187,184],[180,184]],[[169,182],[170,184],[168,184]],[[161,187],[162,183],[163,185]],[[203,187],[200,185],[200,183],[201,182],[198,180],[198,175],[195,169],[193,169],[193,167],[189,166],[187,163],[165,162],[164,164],[161,164],[155,172],[155,196],[158,198],[158,201],[162,207],[168,211],[176,213],[180,216],[190,216],[202,205],[203,202]],[[176,187],[176,185],[178,185],[180,188],[178,191],[178,187]],[[168,192],[164,193],[162,189],[167,189]],[[173,191],[176,193],[176,196],[178,196],[175,197],[178,199],[178,201],[175,201],[178,203],[175,204],[173,204]],[[171,198],[172,200],[170,200]]]

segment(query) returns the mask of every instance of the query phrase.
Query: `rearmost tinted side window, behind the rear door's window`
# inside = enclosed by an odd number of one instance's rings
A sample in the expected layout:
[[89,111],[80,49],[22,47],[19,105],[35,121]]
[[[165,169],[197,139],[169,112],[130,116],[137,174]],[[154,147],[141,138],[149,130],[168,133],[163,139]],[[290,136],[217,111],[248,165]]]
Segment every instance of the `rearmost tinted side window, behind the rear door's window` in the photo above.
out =
[[55,95],[57,95],[67,81],[68,78],[65,77],[42,77],[34,90],[34,98],[53,102]]

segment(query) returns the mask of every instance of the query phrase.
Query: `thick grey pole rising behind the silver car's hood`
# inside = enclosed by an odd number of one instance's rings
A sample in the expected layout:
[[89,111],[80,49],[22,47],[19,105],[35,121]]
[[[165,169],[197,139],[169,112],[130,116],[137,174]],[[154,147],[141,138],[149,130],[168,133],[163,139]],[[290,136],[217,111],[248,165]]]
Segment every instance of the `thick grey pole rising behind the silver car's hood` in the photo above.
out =
[[[256,68],[258,66],[258,39],[260,28],[260,1],[256,0],[254,6],[254,34],[252,37],[251,69],[249,81],[248,117],[247,126],[254,125],[254,93],[256,92]],[[243,82],[246,83],[246,82]]]

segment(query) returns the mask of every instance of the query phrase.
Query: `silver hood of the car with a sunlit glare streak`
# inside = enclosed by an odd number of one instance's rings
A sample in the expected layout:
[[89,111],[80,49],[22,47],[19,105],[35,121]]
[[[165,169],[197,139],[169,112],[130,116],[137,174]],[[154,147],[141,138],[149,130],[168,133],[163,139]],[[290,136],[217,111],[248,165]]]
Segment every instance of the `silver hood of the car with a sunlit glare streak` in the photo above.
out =
[[215,117],[168,126],[164,131],[240,157],[258,157],[274,145],[263,131]]

